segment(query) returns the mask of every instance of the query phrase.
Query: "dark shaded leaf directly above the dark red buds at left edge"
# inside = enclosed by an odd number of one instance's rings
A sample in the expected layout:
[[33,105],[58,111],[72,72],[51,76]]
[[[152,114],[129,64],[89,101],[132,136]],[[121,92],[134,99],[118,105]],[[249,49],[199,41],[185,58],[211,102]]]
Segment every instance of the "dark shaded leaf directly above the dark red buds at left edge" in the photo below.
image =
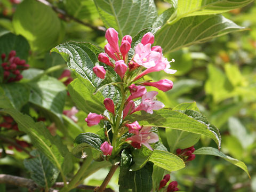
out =
[[0,37],[0,53],[8,55],[12,50],[16,51],[16,57],[27,60],[29,44],[21,35],[7,33]]

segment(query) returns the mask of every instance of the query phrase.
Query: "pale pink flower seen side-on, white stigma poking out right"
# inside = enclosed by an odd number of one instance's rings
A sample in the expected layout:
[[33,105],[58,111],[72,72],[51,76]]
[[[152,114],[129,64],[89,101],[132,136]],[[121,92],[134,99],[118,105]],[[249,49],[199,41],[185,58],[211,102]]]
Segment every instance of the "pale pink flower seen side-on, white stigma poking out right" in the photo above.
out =
[[[174,59],[171,61],[171,62],[174,62]],[[174,74],[176,73],[177,70],[173,70],[173,69],[169,69],[171,66],[170,66],[170,62],[167,61],[166,58],[162,58],[161,61],[157,62],[156,66],[154,67],[150,67],[148,69],[146,69],[145,71],[143,71],[141,74],[139,74],[135,80],[143,77],[144,75],[147,75],[148,73],[151,73],[151,72],[155,72],[155,71],[161,71],[161,70],[164,70],[165,73],[167,74]]]

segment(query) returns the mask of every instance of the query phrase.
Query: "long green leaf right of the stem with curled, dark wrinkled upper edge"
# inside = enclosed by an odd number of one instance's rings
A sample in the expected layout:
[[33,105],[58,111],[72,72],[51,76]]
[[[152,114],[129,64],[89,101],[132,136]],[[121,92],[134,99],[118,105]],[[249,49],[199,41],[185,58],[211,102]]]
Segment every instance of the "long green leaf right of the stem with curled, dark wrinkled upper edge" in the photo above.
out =
[[139,111],[130,115],[130,121],[138,121],[140,125],[144,126],[157,126],[202,134],[213,139],[220,148],[221,137],[217,128],[207,122],[205,123],[204,121],[207,119],[197,111],[185,110],[183,113],[170,109],[160,109],[151,115]]

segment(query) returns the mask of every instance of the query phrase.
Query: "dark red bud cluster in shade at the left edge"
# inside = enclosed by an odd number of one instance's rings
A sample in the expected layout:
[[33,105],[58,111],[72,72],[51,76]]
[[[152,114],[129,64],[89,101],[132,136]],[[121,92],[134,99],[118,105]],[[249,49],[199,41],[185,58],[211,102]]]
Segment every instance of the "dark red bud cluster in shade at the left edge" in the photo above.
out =
[[[6,59],[6,55],[3,53],[2,58],[2,67],[4,69],[4,82],[15,82],[20,81],[23,76],[20,74],[22,70],[29,68],[29,65],[26,64],[25,60],[20,60],[19,57],[15,57],[16,52],[11,51]],[[5,61],[5,62],[4,62]]]

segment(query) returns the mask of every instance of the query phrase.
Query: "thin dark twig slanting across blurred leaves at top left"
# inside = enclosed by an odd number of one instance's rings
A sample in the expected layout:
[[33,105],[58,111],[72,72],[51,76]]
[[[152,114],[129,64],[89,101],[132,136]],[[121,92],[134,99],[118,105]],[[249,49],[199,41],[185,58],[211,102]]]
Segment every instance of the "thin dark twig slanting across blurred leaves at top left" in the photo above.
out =
[[57,12],[57,13],[60,13],[60,14],[63,15],[64,17],[69,18],[69,19],[71,19],[71,20],[74,20],[74,21],[76,21],[76,22],[78,22],[78,23],[80,23],[80,24],[82,24],[82,25],[84,25],[84,26],[90,27],[90,28],[93,29],[93,30],[98,30],[98,31],[103,31],[103,32],[106,31],[106,28],[105,28],[105,27],[93,26],[93,25],[91,25],[90,23],[87,23],[87,22],[81,21],[81,20],[79,20],[79,19],[77,19],[77,18],[74,18],[73,16],[69,15],[66,11],[59,9],[58,7],[54,6],[53,4],[51,4],[50,2],[48,2],[48,1],[46,1],[46,0],[36,0],[36,1],[38,1],[38,2],[40,2],[40,3],[43,3],[44,5],[50,6],[50,7],[53,9],[53,11],[55,11],[55,12]]

